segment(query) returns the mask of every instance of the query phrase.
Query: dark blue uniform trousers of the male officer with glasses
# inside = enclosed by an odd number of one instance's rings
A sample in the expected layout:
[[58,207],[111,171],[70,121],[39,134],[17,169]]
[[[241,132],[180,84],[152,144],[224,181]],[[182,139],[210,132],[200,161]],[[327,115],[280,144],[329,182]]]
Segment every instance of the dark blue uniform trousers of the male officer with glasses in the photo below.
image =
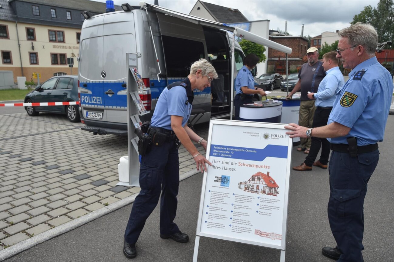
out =
[[379,161],[379,150],[351,157],[331,153],[328,220],[337,248],[338,262],[362,262],[364,235],[364,198],[368,181]]

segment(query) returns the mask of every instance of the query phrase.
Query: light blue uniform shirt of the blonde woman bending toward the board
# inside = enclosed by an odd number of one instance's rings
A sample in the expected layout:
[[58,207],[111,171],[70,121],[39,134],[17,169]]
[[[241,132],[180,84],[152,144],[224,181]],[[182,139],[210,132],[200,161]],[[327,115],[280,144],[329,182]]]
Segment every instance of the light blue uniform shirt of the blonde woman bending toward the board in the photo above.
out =
[[[190,88],[190,82],[188,83]],[[171,115],[182,116],[182,126],[185,126],[191,112],[191,103],[188,102],[186,89],[183,86],[174,86],[168,90],[164,88],[156,103],[151,119],[151,126],[172,130]]]

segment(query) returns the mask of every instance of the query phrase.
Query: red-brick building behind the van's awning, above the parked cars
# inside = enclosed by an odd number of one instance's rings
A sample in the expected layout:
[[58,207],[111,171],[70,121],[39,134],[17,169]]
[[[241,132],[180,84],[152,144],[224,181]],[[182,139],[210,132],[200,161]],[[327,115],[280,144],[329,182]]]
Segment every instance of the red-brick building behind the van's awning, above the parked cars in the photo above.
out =
[[[297,67],[304,64],[303,60],[308,49],[308,39],[305,37],[296,37],[291,35],[279,36],[270,35],[269,40],[288,46],[292,49],[292,53],[287,56],[289,73],[297,71]],[[286,73],[286,54],[269,48],[268,50],[268,73]]]

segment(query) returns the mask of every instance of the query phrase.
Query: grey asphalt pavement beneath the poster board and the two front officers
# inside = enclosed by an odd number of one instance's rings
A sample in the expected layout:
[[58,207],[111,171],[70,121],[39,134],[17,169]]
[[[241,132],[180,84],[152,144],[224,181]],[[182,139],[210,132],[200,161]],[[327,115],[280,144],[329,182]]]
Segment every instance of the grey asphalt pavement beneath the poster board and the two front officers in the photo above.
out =
[[[384,143],[379,143],[379,164],[368,184],[364,205],[365,262],[388,262],[394,257],[394,116],[388,116]],[[299,165],[305,154],[293,150],[292,165]],[[132,261],[191,261],[195,242],[202,175],[180,182],[178,213],[175,222],[188,233],[190,242],[181,244],[159,237],[159,208],[147,220],[137,243],[138,256]],[[329,197],[328,170],[290,173],[290,192],[286,236],[286,261],[333,260],[321,255],[323,246],[335,246],[327,220]],[[89,222],[61,236],[28,249],[6,262],[130,261],[122,253],[123,234],[131,205]],[[262,221],[264,223],[264,221]],[[279,261],[280,251],[264,247],[201,238],[200,262]]]

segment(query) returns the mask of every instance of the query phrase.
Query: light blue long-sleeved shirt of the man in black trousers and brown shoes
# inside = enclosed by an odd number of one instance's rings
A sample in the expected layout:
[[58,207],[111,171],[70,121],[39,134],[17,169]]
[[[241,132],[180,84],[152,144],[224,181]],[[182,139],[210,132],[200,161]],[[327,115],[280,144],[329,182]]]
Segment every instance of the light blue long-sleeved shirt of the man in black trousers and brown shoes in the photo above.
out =
[[345,80],[339,66],[327,70],[327,75],[319,84],[318,92],[314,93],[316,99],[315,106],[333,106],[336,93],[344,86]]

